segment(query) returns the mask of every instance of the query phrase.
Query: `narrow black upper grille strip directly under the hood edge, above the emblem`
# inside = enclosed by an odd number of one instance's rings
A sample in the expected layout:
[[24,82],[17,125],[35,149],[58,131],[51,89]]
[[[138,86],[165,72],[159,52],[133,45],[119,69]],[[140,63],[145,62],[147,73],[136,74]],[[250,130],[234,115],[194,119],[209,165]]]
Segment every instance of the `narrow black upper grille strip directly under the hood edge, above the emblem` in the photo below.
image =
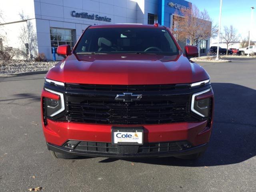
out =
[[189,90],[190,84],[164,84],[164,85],[102,85],[102,84],[75,84],[68,83],[69,90],[95,90],[95,91],[121,91],[121,92],[145,92],[145,91],[170,91]]

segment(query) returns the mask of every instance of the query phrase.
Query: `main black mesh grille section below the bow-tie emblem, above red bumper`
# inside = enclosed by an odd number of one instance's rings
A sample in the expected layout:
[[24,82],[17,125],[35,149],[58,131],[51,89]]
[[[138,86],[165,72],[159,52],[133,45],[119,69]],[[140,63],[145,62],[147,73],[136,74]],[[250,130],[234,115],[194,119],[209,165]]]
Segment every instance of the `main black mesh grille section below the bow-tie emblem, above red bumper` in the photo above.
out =
[[[103,99],[103,98],[102,98]],[[170,100],[119,102],[67,96],[68,115],[72,122],[96,124],[162,124],[191,121],[189,95]],[[194,119],[193,119],[194,120]]]

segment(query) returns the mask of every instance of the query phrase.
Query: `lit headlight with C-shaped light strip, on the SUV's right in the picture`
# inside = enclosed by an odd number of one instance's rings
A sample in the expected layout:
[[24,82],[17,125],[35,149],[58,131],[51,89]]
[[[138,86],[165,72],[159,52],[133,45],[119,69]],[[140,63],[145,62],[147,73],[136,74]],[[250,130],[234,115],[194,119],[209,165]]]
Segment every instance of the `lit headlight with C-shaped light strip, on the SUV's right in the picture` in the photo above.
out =
[[204,90],[192,95],[191,111],[201,117],[208,117],[210,108],[210,98],[196,100],[196,97],[204,93],[210,92],[211,89]]

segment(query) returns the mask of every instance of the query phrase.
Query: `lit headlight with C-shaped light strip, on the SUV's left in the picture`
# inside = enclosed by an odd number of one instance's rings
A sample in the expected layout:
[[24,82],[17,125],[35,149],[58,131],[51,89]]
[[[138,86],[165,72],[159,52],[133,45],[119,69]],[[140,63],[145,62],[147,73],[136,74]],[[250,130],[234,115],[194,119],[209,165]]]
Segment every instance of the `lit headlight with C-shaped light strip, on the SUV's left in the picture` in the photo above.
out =
[[59,114],[60,112],[64,111],[65,105],[64,105],[63,94],[60,92],[56,92],[56,91],[47,89],[47,88],[44,88],[44,90],[60,96],[59,100],[55,100],[55,99],[51,99],[51,98],[47,98],[47,97],[44,98],[47,116],[53,117],[53,116]]

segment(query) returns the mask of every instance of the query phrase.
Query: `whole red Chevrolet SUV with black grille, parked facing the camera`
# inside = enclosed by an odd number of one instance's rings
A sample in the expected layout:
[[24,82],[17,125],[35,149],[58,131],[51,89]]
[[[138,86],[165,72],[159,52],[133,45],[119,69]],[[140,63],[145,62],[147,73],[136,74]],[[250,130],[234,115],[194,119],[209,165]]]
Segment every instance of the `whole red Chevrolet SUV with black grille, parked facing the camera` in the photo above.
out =
[[52,67],[42,126],[56,158],[198,158],[212,131],[214,96],[195,46],[182,52],[164,26],[94,25]]

